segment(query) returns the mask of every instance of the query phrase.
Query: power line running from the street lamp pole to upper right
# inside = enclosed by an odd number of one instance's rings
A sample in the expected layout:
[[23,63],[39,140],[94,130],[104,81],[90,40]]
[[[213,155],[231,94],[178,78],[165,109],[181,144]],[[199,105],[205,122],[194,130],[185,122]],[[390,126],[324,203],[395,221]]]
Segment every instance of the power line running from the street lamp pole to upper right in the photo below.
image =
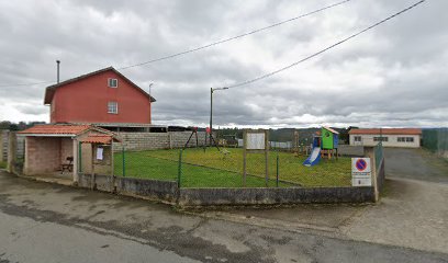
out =
[[352,34],[352,35],[350,35],[350,36],[348,36],[348,37],[346,37],[346,38],[344,38],[344,39],[341,39],[341,41],[339,41],[339,42],[337,42],[337,43],[335,43],[335,44],[333,44],[333,45],[331,45],[331,46],[328,46],[328,47],[326,47],[326,48],[324,48],[324,49],[322,49],[322,50],[320,50],[320,52],[317,52],[317,53],[314,53],[313,55],[310,55],[310,56],[307,56],[307,57],[305,57],[305,58],[303,58],[303,59],[301,59],[301,60],[299,60],[299,61],[295,61],[295,62],[293,62],[293,64],[291,64],[291,65],[289,65],[289,66],[285,66],[285,67],[283,67],[283,68],[280,68],[280,69],[275,70],[275,71],[272,71],[272,72],[266,73],[266,75],[260,76],[260,77],[258,77],[258,78],[255,78],[255,79],[251,79],[251,80],[246,80],[246,81],[244,81],[244,82],[239,82],[239,83],[236,83],[236,84],[233,84],[233,85],[227,85],[227,87],[225,87],[225,88],[233,89],[233,88],[237,88],[237,87],[250,84],[250,83],[254,83],[254,82],[256,82],[256,81],[259,81],[259,80],[269,78],[269,77],[271,77],[271,76],[273,76],[273,75],[277,75],[277,73],[279,73],[279,72],[281,72],[281,71],[284,71],[284,70],[287,70],[287,69],[290,69],[290,68],[292,68],[292,67],[295,67],[295,66],[298,66],[298,65],[301,64],[301,62],[304,62],[304,61],[306,61],[306,60],[309,60],[309,59],[311,59],[311,58],[313,58],[313,57],[316,57],[316,56],[318,56],[318,55],[321,55],[321,54],[323,54],[323,53],[325,53],[325,52],[327,52],[327,50],[329,50],[329,49],[332,49],[332,48],[334,48],[334,47],[336,47],[336,46],[338,46],[338,45],[340,45],[340,44],[343,44],[343,43],[345,43],[345,42],[347,42],[347,41],[349,41],[349,39],[351,39],[351,38],[354,38],[354,37],[356,37],[356,36],[358,36],[358,35],[360,35],[360,34],[362,34],[362,33],[365,33],[365,32],[367,32],[367,31],[369,31],[369,30],[371,30],[371,28],[373,28],[373,27],[376,27],[376,26],[378,26],[378,25],[380,25],[380,24],[382,24],[382,23],[385,23],[387,21],[389,21],[389,20],[391,20],[391,19],[393,19],[393,18],[395,18],[395,16],[397,16],[397,15],[404,13],[404,12],[410,11],[411,9],[417,7],[418,4],[421,4],[421,3],[425,2],[425,1],[426,1],[426,0],[421,0],[421,1],[418,1],[418,2],[416,2],[416,3],[414,3],[414,4],[412,4],[412,5],[410,5],[410,7],[405,8],[405,9],[403,9],[402,11],[396,12],[396,13],[394,13],[394,14],[388,16],[387,19],[383,19],[383,20],[381,20],[380,22],[377,22],[377,23],[374,23],[374,24],[372,24],[372,25],[370,25],[370,26],[368,26],[368,27],[366,27],[366,28],[363,28],[363,30],[361,30],[361,31],[359,31],[359,32],[357,32],[357,33],[355,33],[355,34]]

